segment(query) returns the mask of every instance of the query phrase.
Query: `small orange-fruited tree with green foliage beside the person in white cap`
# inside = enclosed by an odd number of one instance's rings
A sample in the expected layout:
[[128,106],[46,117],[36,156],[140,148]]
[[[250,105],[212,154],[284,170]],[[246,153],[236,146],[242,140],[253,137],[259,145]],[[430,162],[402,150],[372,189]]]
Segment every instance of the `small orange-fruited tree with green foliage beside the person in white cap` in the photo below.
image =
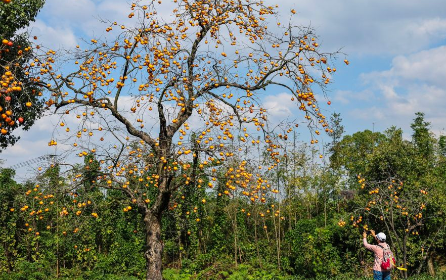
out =
[[[386,137],[363,160],[368,164],[356,176],[358,199],[350,206],[353,227],[384,231],[400,272],[419,274],[444,230],[442,186],[425,155],[391,128]],[[426,134],[428,135],[428,134]],[[338,225],[343,227],[346,221]],[[379,227],[379,228],[376,228]]]

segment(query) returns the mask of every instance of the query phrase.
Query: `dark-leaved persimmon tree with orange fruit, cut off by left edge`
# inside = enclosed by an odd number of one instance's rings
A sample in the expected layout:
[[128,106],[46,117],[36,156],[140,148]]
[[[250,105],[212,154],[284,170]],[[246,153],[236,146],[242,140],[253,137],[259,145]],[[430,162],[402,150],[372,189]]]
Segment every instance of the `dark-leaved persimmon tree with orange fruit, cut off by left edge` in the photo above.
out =
[[43,3],[0,2],[0,151],[18,141],[15,129],[28,130],[43,112],[40,88],[25,74],[33,57],[31,42],[26,32],[17,32],[34,21]]

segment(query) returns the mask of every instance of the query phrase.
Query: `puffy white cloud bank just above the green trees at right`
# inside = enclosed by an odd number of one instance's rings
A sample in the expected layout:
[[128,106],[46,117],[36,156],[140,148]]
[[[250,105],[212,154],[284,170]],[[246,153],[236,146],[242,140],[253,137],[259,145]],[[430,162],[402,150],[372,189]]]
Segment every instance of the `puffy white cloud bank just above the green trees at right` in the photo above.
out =
[[362,75],[376,92],[375,104],[369,109],[356,109],[350,115],[373,121],[390,121],[409,131],[416,112],[424,112],[434,131],[445,128],[446,120],[446,46],[421,51],[392,60],[391,68]]

